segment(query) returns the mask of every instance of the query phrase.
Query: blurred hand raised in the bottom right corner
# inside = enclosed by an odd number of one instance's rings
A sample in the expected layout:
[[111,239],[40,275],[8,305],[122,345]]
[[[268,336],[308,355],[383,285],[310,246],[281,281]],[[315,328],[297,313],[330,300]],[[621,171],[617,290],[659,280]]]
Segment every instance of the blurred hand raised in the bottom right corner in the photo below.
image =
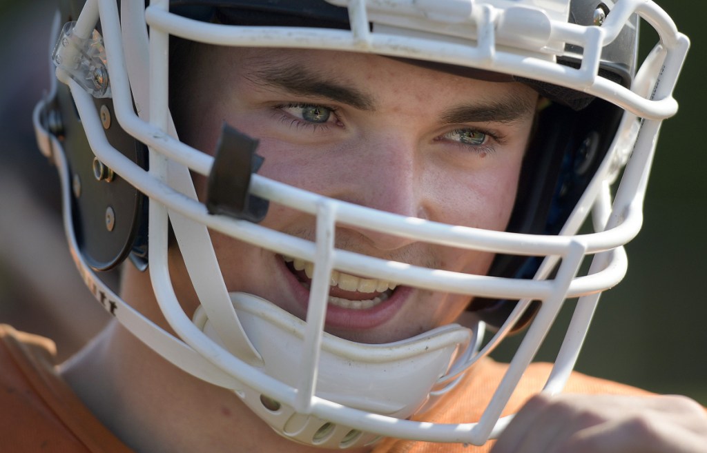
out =
[[707,411],[686,397],[530,399],[491,453],[707,453]]

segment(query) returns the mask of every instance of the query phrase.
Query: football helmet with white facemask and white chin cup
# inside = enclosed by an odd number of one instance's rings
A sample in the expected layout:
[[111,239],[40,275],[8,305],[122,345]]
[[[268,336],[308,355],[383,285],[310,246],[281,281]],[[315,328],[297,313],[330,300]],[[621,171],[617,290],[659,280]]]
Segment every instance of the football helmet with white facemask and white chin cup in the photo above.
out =
[[[561,391],[600,294],[624,276],[623,246],[641,227],[655,138],[661,121],[677,111],[672,90],[689,41],[653,2],[206,0],[146,7],[143,0],[88,0],[80,8],[57,17],[75,20],[60,33],[57,25],[52,56],[65,85],[54,84],[37,106],[35,128],[62,176],[79,272],[145,344],[187,373],[233,389],[298,442],[344,448],[386,436],[481,445],[508,423],[503,408],[563,302],[579,298],[542,389]],[[660,38],[640,65],[639,18]],[[229,128],[216,157],[181,143],[168,110],[170,35],[370,52],[534,87],[551,105],[537,119],[508,231],[411,219],[266,179],[257,174],[257,143]],[[206,203],[197,200],[190,171],[209,177]],[[315,239],[259,225],[269,201],[315,216]],[[593,232],[578,234],[590,213]],[[168,220],[201,301],[193,319],[170,282]],[[334,248],[340,224],[485,250],[496,261],[489,276],[400,265]],[[207,229],[314,263],[306,320],[262,298],[229,294]],[[177,337],[101,282],[99,271],[126,258],[151,268]],[[580,272],[585,258],[591,264]],[[479,321],[393,344],[339,339],[322,331],[334,269],[468,295]],[[493,336],[484,341],[485,325]],[[409,420],[522,325],[525,338],[479,421]],[[364,385],[372,378],[375,388]]]

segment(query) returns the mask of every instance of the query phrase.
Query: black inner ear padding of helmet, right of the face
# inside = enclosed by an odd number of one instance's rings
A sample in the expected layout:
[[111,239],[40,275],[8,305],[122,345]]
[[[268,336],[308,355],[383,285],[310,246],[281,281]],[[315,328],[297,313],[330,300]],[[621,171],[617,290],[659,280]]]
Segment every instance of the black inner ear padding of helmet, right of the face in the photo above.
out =
[[[539,111],[506,231],[559,234],[606,157],[621,115],[619,107],[602,99],[594,99],[580,111],[555,103]],[[532,279],[543,258],[499,254],[489,275]],[[468,310],[498,328],[517,303],[474,298]],[[525,327],[539,306],[539,301],[531,303],[513,330]]]

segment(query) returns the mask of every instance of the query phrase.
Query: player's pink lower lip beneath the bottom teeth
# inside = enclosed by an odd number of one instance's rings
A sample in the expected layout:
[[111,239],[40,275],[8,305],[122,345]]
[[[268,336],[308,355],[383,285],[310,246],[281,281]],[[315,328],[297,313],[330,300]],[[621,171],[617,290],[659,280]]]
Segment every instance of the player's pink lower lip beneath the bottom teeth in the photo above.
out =
[[[309,305],[310,291],[302,286],[297,277],[290,272],[285,262],[281,259],[280,267],[286,281],[292,289],[292,294],[295,296],[296,302],[306,313]],[[325,324],[327,327],[348,330],[366,330],[377,327],[392,319],[395,314],[398,313],[411,291],[412,288],[409,286],[398,286],[386,301],[379,303],[375,307],[366,308],[365,310],[353,310],[351,308],[343,308],[328,303]]]

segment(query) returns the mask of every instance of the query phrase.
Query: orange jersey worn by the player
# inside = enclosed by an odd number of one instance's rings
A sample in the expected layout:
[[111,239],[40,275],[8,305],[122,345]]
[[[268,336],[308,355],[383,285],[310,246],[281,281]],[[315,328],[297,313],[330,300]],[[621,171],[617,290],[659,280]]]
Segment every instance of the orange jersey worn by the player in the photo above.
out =
[[[452,394],[424,419],[438,423],[479,420],[507,366],[486,359],[477,363]],[[534,363],[511,397],[506,413],[517,412],[547,380],[551,364]],[[95,418],[54,363],[54,343],[0,325],[0,450],[25,453],[131,453]],[[648,394],[640,389],[573,373],[566,392],[583,394]],[[386,439],[373,453],[481,453],[483,447]]]

